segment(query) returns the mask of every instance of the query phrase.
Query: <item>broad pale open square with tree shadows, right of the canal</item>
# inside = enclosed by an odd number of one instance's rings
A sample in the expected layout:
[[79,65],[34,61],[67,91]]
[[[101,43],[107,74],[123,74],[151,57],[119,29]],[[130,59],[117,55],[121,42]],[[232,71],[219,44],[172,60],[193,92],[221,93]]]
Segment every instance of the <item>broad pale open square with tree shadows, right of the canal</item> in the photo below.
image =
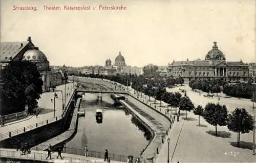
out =
[[[218,97],[214,97],[213,99],[205,98],[203,94],[199,96],[199,93],[191,91],[188,85],[168,89],[168,91],[179,91],[179,88],[187,91],[187,96],[193,101],[195,106],[200,104],[204,107],[208,102],[220,102],[222,105],[225,104],[229,111],[232,111],[236,107],[245,107],[248,111],[251,110],[252,104],[249,100],[221,97],[220,101],[218,101]],[[181,114],[183,112],[184,111],[181,111]],[[250,111],[250,113],[252,112]],[[185,115],[182,114],[180,119],[182,120],[184,117]],[[252,132],[241,134],[240,141],[241,144],[245,146],[244,148],[236,148],[230,143],[237,142],[237,134],[228,131],[227,127],[218,126],[217,130],[220,132],[220,136],[216,137],[207,133],[209,131],[210,133],[214,133],[215,127],[206,123],[203,118],[200,118],[202,127],[198,127],[197,115],[194,115],[193,112],[188,112],[187,117],[190,118],[190,120],[185,121],[182,129],[181,124],[184,120],[175,122],[174,127],[170,131],[170,160],[172,159],[172,162],[255,162],[256,156],[252,155],[251,150]],[[172,140],[177,142],[177,132],[180,130],[181,134],[174,152],[175,145]],[[167,143],[165,143],[157,158],[157,162],[167,160],[167,149]]]

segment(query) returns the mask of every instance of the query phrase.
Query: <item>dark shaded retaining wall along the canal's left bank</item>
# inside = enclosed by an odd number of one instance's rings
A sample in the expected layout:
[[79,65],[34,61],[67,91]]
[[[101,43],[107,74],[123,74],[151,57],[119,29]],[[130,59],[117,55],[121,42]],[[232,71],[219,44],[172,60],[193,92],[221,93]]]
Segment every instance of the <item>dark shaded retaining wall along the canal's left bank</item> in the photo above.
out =
[[74,109],[76,98],[77,94],[74,91],[62,119],[57,119],[55,122],[49,122],[47,125],[39,126],[33,130],[7,138],[0,142],[0,146],[2,148],[16,148],[17,142],[20,141],[21,143],[27,143],[29,147],[33,147],[61,134],[63,131],[67,130],[67,126],[69,127],[70,113]]

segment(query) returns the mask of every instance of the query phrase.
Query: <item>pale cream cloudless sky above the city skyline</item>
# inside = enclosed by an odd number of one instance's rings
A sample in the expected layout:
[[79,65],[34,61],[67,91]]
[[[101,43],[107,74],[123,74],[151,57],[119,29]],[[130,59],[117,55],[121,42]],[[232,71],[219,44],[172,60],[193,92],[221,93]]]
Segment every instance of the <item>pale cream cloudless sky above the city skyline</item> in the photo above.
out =
[[[0,1],[1,42],[31,36],[50,65],[104,65],[119,51],[127,65],[167,65],[204,59],[214,41],[227,61],[256,62],[255,0]],[[65,5],[91,10],[65,11]],[[99,10],[99,5],[126,10]]]

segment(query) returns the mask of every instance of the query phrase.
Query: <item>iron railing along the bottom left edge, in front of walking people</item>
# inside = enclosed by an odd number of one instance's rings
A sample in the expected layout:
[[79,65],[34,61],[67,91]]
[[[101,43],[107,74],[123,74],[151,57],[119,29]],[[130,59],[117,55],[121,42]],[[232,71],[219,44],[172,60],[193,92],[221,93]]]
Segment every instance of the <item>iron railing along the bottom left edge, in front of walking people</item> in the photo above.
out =
[[[8,150],[0,150],[1,158],[16,158],[16,159],[26,159],[26,160],[39,160],[39,161],[47,161],[46,159],[48,154],[46,153],[39,153],[39,152],[32,152],[30,154],[22,155],[20,151],[8,151]],[[56,158],[57,154],[52,154],[52,158]],[[65,156],[65,160],[68,162],[83,162],[83,163],[93,163],[94,161],[88,159],[81,159],[81,158],[74,158],[70,156]]]

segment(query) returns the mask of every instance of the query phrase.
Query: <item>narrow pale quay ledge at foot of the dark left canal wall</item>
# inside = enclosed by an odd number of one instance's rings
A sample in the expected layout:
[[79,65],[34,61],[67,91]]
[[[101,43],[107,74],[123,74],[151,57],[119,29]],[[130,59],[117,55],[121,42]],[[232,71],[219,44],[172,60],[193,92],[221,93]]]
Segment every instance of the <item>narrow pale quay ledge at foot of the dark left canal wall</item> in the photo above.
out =
[[78,98],[75,108],[74,108],[74,112],[73,114],[71,114],[72,119],[71,119],[71,123],[70,123],[70,127],[67,131],[61,133],[60,135],[57,135],[51,139],[49,139],[48,141],[45,141],[35,147],[33,147],[32,149],[34,150],[46,150],[49,146],[49,144],[52,145],[53,149],[56,148],[58,145],[63,144],[67,141],[69,141],[70,138],[72,138],[72,136],[76,133],[77,131],[77,122],[78,122],[78,111],[80,108],[80,102],[81,102],[82,98]]

